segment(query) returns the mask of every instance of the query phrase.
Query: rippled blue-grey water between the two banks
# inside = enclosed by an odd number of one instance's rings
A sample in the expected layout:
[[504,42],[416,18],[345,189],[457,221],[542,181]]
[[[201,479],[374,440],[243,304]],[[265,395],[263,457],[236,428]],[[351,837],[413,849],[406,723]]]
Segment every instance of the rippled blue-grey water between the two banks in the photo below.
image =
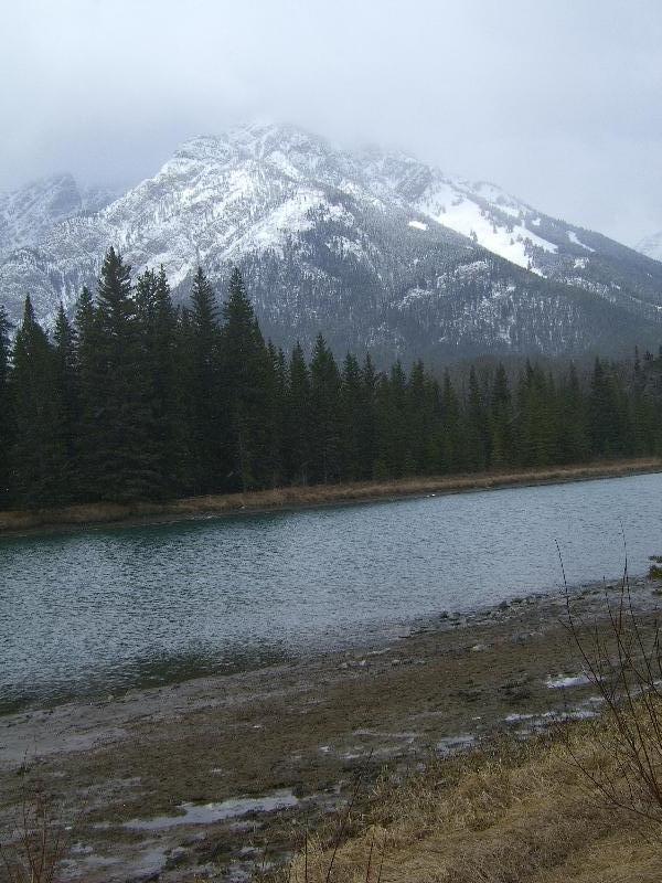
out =
[[662,475],[0,540],[0,710],[256,667],[630,572]]

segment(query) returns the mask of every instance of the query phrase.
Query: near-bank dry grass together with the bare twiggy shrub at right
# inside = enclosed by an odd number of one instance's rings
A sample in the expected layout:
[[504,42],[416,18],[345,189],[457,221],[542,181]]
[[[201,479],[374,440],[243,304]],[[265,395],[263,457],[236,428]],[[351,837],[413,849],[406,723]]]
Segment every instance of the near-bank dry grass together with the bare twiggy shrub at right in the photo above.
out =
[[342,830],[353,826],[352,837],[342,842],[339,828],[306,838],[282,874],[287,883],[662,880],[658,621],[644,623],[634,608],[627,556],[618,600],[606,597],[606,630],[577,616],[567,585],[565,597],[566,625],[602,716],[433,760],[402,783],[384,778],[363,817],[345,811]]

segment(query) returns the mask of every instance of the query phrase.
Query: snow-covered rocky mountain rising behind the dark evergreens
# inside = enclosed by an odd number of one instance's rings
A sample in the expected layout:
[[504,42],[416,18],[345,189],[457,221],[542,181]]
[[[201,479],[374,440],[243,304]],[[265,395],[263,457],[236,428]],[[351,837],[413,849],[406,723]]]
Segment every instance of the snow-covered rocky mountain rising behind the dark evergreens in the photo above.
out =
[[72,307],[114,244],[135,272],[163,264],[182,300],[199,263],[218,290],[241,266],[279,343],[322,331],[339,352],[369,347],[386,360],[662,339],[662,264],[404,153],[242,126],[188,141],[97,210],[70,212],[66,192],[21,198],[47,212],[24,211],[1,258],[14,320],[26,291],[42,319],[58,300]]

